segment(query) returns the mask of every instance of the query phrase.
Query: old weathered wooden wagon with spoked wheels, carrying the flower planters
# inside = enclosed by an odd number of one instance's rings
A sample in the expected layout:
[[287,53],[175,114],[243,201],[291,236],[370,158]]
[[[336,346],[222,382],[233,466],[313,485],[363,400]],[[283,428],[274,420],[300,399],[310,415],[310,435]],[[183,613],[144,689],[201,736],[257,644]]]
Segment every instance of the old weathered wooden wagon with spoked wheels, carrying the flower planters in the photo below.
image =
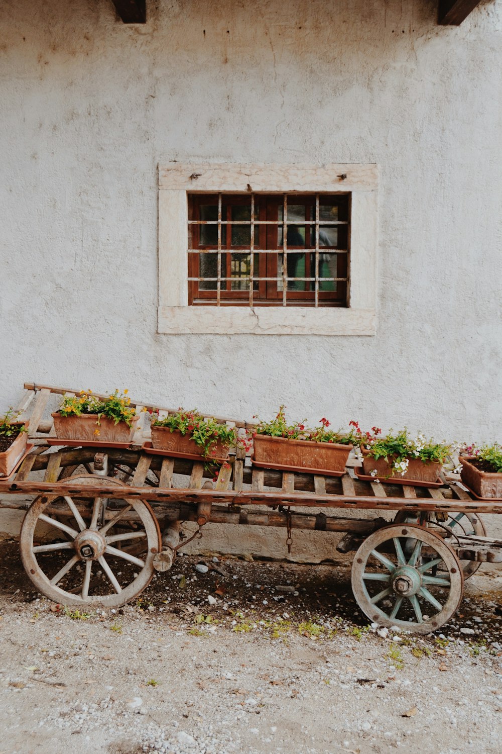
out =
[[[479,516],[497,513],[501,503],[480,501],[445,477],[429,487],[360,480],[355,461],[342,477],[292,474],[253,467],[238,450],[214,483],[203,462],[148,449],[140,422],[130,446],[61,446],[44,415],[53,394],[75,391],[24,388],[19,409],[29,418],[29,447],[0,480],[2,507],[26,510],[26,573],[64,605],[113,608],[137,598],[207,523],[281,526],[288,546],[294,529],[345,532],[336,549],[355,550],[351,583],[361,610],[379,625],[414,633],[449,621],[464,580],[481,562],[502,561],[502,541],[486,537]],[[137,413],[145,407],[132,405]],[[347,513],[354,509],[392,511],[394,520]],[[185,522],[196,524],[189,537]]]

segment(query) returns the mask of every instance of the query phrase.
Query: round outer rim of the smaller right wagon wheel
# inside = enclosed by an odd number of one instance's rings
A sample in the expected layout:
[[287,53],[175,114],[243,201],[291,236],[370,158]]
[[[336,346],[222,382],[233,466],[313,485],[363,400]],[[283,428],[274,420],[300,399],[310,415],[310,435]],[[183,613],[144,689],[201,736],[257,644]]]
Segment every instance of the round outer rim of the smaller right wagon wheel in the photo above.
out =
[[[431,618],[428,618],[427,620],[424,620],[422,622],[418,622],[418,618],[417,621],[403,621],[397,618],[396,615],[394,615],[394,617],[391,617],[392,612],[390,615],[388,615],[381,608],[379,608],[378,605],[372,604],[371,599],[374,599],[374,597],[372,598],[370,596],[370,593],[368,592],[365,584],[364,575],[367,574],[367,562],[370,556],[374,557],[376,547],[379,547],[380,544],[388,541],[394,541],[395,544],[396,540],[401,540],[403,538],[414,539],[415,543],[421,541],[421,543],[426,544],[427,547],[433,547],[434,550],[437,551],[438,556],[442,559],[446,566],[446,569],[449,572],[449,593],[446,601],[442,605],[442,609],[432,615]],[[418,548],[418,551],[419,550],[420,548]],[[413,548],[413,552],[414,551],[415,547]],[[411,558],[409,559],[409,562],[411,562]],[[394,566],[394,563],[392,563],[392,566]],[[398,564],[394,567],[396,569],[400,568]],[[421,568],[423,568],[423,566],[421,566]],[[424,574],[427,575],[427,578],[431,578],[431,576],[427,573],[429,570],[431,570],[431,568],[432,566],[429,566],[429,568],[424,569]],[[388,569],[388,572],[388,583],[391,584],[392,572],[390,568]],[[387,576],[385,572],[382,572],[382,574],[384,575],[384,577]],[[370,580],[380,581],[380,579],[378,578]],[[382,578],[382,583],[385,583],[384,578]],[[429,583],[430,582],[427,581],[427,584]],[[397,626],[412,633],[427,634],[440,628],[443,624],[447,623],[450,618],[452,618],[452,615],[455,615],[455,611],[458,609],[458,605],[461,602],[462,594],[464,591],[464,575],[461,569],[460,561],[458,560],[458,557],[455,554],[454,550],[452,550],[452,548],[449,547],[449,545],[446,544],[443,539],[440,538],[440,536],[434,534],[434,532],[431,532],[429,529],[424,529],[424,527],[422,526],[392,525],[385,526],[383,529],[379,529],[377,532],[373,532],[373,534],[365,539],[363,544],[361,544],[361,547],[359,547],[357,553],[355,553],[354,556],[354,562],[352,564],[351,572],[351,584],[357,605],[359,605],[361,610],[364,612],[364,615],[367,615],[367,617],[370,618],[371,621],[378,623],[380,626],[385,626],[388,628]],[[425,584],[424,587],[422,585],[421,588],[425,588],[425,590],[427,590],[427,584]],[[395,593],[392,587],[388,588],[391,590],[388,596],[392,596],[393,598],[395,597],[395,608],[397,598],[400,595]],[[382,597],[381,599],[385,599],[386,596]],[[404,599],[409,599],[409,601],[411,602],[411,598],[409,596],[405,596]],[[413,608],[415,609],[414,605]],[[420,605],[418,607],[418,610],[420,611]]]

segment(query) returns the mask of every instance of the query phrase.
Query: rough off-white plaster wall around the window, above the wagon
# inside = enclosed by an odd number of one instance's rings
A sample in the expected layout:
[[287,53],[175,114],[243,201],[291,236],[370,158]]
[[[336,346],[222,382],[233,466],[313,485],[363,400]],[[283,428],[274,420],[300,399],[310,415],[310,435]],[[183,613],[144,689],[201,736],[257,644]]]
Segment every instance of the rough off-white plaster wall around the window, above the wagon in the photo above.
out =
[[[436,5],[5,0],[0,409],[34,380],[501,440],[502,2]],[[158,335],[170,160],[378,163],[376,336]]]

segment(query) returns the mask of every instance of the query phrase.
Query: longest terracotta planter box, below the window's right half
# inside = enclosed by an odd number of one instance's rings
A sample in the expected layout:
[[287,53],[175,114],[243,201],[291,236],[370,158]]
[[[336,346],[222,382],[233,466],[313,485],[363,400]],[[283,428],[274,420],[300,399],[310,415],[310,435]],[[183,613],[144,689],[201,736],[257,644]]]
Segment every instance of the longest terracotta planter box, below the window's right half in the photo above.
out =
[[271,469],[341,477],[345,474],[345,464],[352,447],[257,434],[254,438],[253,463]]

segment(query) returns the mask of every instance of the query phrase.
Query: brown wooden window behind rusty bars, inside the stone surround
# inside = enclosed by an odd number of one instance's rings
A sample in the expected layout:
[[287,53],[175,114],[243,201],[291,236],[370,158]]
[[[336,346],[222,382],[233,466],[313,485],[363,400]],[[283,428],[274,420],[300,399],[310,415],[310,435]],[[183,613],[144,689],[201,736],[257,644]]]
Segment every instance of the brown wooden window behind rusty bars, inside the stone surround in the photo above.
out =
[[348,305],[349,194],[191,194],[188,244],[190,305]]

